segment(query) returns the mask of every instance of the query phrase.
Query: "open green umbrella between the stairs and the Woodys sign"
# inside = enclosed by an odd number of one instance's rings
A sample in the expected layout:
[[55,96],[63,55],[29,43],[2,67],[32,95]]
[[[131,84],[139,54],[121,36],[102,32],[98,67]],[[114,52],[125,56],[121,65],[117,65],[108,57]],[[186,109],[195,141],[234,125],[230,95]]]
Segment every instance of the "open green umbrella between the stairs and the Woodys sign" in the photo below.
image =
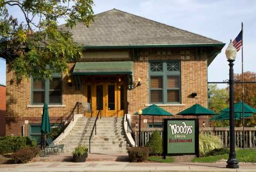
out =
[[[138,114],[138,112],[134,113],[134,114]],[[153,116],[153,125],[152,128],[154,127],[154,116],[173,116],[172,113],[161,109],[158,107],[158,105],[156,104],[152,104],[149,107],[145,108],[142,110],[142,115],[146,116]]]

